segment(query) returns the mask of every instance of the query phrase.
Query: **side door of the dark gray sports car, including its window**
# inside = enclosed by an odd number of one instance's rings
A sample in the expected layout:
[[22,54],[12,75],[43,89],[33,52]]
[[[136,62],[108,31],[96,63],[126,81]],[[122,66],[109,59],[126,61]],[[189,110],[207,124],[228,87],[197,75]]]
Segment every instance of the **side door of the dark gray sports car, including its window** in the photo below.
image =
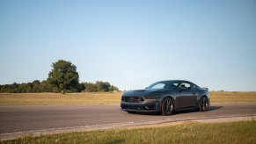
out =
[[176,97],[177,108],[186,108],[195,106],[196,104],[196,93],[191,89],[191,83],[180,83],[179,92]]

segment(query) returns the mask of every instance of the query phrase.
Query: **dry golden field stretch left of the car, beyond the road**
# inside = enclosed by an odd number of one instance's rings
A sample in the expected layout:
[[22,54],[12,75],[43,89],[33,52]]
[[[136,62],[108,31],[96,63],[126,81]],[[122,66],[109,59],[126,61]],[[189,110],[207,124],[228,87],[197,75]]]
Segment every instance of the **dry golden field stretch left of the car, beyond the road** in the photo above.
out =
[[105,93],[0,93],[0,105],[119,104],[121,92]]

